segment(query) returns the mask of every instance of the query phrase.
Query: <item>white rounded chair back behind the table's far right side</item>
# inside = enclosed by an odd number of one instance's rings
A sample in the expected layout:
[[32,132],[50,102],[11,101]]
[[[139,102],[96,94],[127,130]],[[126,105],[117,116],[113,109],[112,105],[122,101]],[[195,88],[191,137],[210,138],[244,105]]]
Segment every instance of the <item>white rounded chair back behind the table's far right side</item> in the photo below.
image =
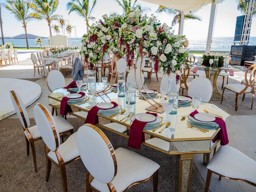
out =
[[188,96],[198,96],[202,102],[209,102],[212,97],[212,83],[205,77],[197,77],[188,86]]

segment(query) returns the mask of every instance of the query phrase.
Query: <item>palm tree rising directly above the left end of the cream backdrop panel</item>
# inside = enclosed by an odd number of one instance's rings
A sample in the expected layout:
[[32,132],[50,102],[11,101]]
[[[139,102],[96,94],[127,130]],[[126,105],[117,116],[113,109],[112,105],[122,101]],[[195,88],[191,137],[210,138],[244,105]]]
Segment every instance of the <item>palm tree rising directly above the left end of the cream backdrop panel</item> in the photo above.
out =
[[58,0],[31,0],[29,3],[33,13],[30,14],[32,18],[38,20],[46,20],[50,30],[50,36],[52,36],[51,22],[58,20],[61,16],[54,14],[58,8]]

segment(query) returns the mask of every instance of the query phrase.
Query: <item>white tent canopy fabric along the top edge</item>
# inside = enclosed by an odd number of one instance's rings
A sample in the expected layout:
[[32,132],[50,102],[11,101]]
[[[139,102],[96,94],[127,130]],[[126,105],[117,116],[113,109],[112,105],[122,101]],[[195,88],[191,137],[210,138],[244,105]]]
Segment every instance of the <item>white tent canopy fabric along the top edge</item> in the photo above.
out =
[[[158,4],[183,11],[188,14],[190,11],[196,11],[202,6],[209,4],[212,0],[142,0],[152,4]],[[224,0],[215,0],[215,4],[221,3]]]

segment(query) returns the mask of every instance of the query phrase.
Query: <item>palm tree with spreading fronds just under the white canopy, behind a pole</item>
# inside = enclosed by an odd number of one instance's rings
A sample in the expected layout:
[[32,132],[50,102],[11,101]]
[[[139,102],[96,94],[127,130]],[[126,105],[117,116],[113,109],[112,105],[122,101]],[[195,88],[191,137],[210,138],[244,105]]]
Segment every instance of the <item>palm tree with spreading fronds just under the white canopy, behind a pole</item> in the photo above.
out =
[[[156,10],[156,12],[157,13],[164,12],[164,13],[166,13],[168,15],[174,15],[174,18],[172,20],[172,26],[174,26],[174,25],[176,25],[178,23],[179,24],[179,33],[180,33],[181,11],[160,5],[158,7],[158,9]],[[189,12],[189,14],[184,15],[184,18],[187,19],[187,20],[188,19],[193,19],[193,20],[202,21],[201,17],[195,15],[194,12]]]

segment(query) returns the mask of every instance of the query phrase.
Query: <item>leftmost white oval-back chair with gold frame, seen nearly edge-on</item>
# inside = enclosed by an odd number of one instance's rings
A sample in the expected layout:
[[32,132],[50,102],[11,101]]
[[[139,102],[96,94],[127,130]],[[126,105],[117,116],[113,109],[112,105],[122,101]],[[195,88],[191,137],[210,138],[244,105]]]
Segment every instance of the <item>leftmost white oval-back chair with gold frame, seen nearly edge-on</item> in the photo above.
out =
[[[26,144],[27,144],[27,155],[29,155],[29,144],[30,144],[31,150],[32,150],[32,156],[33,156],[34,168],[35,168],[35,172],[37,172],[36,150],[35,150],[34,142],[42,139],[41,135],[36,125],[30,127],[30,120],[28,118],[28,113],[20,96],[16,92],[14,92],[14,90],[11,90],[10,97],[12,99],[12,104],[14,106],[14,109],[23,127],[23,131],[26,138]],[[63,142],[63,134],[66,134],[68,132],[73,133],[74,127],[61,116],[54,117],[54,120],[59,127],[60,134],[62,136],[62,142]]]

